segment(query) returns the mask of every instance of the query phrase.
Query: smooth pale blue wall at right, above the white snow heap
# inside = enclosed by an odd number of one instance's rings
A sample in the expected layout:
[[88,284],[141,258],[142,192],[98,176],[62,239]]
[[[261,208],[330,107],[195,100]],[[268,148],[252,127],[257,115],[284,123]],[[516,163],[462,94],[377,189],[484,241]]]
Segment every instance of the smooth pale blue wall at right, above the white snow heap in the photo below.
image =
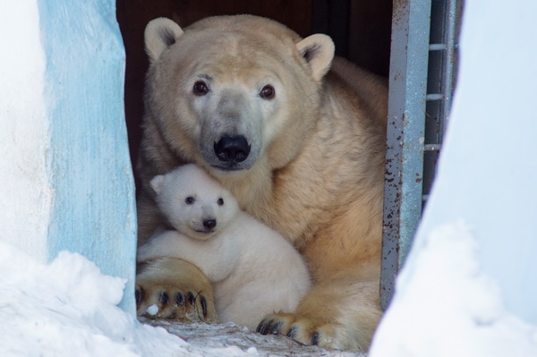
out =
[[[537,2],[465,2],[454,106],[421,233],[465,218],[507,310],[537,324]],[[418,237],[417,240],[420,240]],[[508,243],[511,242],[511,243]]]

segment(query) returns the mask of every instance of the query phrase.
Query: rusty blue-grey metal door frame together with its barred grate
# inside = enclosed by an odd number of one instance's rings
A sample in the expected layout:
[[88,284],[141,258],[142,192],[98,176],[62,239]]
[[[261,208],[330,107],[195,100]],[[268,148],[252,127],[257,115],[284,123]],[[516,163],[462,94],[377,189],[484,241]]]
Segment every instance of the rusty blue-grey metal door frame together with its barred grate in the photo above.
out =
[[394,1],[380,303],[388,307],[434,179],[462,0]]

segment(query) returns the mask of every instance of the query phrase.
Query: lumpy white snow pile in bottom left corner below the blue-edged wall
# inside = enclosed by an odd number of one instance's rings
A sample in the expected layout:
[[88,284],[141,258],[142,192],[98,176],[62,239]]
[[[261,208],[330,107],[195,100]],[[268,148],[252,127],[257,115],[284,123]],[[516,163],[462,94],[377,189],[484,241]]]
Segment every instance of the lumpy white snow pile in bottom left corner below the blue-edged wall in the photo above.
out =
[[[0,242],[0,355],[169,356],[187,344],[116,306],[124,279],[79,254],[41,264]],[[176,353],[175,355],[180,355]]]

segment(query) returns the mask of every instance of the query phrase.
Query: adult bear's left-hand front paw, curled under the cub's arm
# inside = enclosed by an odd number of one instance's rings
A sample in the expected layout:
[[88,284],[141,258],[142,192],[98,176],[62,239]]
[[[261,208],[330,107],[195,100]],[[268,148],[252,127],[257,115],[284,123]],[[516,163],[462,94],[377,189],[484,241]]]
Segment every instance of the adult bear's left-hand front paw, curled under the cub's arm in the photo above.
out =
[[150,259],[136,276],[138,316],[185,322],[216,322],[212,285],[200,269],[182,259]]

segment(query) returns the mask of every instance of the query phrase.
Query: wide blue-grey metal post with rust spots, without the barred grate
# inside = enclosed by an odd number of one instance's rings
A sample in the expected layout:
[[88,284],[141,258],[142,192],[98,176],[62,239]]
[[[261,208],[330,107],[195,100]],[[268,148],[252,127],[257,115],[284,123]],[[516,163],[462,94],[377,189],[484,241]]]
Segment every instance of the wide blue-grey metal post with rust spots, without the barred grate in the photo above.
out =
[[383,309],[391,301],[396,274],[422,215],[429,34],[430,0],[394,1],[380,276]]

